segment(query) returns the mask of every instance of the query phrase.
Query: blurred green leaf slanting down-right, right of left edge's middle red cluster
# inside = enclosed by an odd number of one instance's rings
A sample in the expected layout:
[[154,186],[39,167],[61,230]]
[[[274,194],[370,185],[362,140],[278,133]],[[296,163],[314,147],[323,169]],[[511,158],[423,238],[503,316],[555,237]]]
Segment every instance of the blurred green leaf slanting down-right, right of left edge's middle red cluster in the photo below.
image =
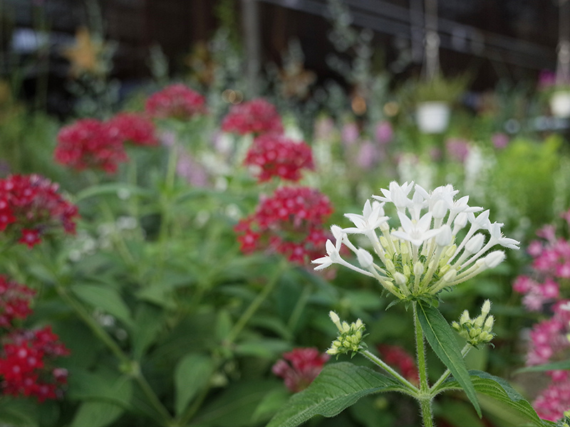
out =
[[133,317],[130,315],[130,309],[117,290],[105,285],[80,283],[73,285],[71,291],[92,307],[105,310],[110,315],[122,320],[126,326],[133,327]]

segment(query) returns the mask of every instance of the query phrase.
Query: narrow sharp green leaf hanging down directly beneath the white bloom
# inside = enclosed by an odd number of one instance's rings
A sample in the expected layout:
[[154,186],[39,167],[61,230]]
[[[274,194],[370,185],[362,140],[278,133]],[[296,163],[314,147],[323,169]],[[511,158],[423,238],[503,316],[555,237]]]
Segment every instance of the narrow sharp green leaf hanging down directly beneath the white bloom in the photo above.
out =
[[477,394],[471,382],[465,361],[461,355],[461,350],[457,345],[457,339],[445,317],[437,308],[430,305],[417,303],[418,320],[422,327],[427,342],[430,343],[437,357],[451,371],[457,382],[461,384],[463,391],[475,407],[477,415],[481,416],[481,408],[477,401]]

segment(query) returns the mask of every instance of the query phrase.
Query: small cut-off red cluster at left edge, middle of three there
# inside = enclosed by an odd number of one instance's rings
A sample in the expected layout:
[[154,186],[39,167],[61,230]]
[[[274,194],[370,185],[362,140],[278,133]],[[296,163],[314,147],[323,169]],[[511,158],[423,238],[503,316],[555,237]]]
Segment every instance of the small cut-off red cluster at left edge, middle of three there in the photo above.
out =
[[12,327],[14,319],[25,319],[30,313],[30,300],[36,291],[0,275],[0,327]]

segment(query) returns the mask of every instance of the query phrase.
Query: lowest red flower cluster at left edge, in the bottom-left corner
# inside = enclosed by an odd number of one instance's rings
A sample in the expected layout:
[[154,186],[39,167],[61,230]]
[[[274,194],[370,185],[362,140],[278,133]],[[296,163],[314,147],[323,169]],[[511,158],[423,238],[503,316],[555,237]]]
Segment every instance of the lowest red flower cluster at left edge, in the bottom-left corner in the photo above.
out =
[[67,383],[67,370],[53,367],[53,359],[67,356],[51,327],[14,330],[3,337],[0,355],[0,390],[11,396],[36,396],[38,401],[57,399]]

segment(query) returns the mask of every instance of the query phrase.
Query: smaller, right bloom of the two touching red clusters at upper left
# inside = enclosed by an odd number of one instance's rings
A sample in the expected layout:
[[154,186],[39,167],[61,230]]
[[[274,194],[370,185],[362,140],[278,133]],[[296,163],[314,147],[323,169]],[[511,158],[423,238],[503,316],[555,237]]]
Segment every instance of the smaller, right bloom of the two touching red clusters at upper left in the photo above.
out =
[[158,144],[155,125],[145,116],[133,112],[121,112],[107,123],[111,134],[116,133],[122,142],[143,147]]

